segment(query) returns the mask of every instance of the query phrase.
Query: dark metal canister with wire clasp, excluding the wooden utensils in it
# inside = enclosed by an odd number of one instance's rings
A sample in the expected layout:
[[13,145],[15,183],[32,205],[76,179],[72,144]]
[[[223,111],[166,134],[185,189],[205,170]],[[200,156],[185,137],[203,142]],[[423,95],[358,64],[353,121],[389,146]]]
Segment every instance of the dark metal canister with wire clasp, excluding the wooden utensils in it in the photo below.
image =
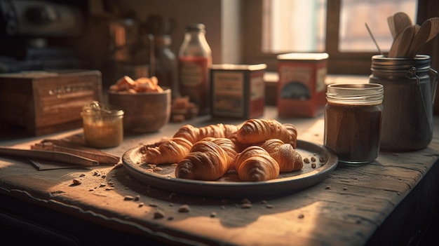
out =
[[438,73],[429,55],[372,56],[370,83],[384,86],[380,148],[424,149],[433,137],[433,102]]

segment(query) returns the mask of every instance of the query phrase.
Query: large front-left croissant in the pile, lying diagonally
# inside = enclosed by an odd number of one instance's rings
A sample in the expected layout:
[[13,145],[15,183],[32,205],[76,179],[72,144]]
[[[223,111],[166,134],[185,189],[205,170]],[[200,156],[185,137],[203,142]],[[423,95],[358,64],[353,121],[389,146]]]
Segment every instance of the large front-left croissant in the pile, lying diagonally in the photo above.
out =
[[175,177],[207,181],[222,177],[232,168],[237,154],[232,147],[234,144],[227,140],[196,142],[187,156],[177,164]]

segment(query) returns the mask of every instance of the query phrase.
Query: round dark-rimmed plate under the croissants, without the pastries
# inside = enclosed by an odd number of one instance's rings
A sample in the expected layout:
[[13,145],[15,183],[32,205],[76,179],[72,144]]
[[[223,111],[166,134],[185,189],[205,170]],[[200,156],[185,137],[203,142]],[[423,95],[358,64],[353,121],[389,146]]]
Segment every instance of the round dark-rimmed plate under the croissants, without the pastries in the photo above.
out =
[[[335,153],[325,146],[297,140],[297,151],[302,158],[309,160],[309,163],[304,162],[302,170],[281,172],[278,179],[264,182],[241,182],[234,171],[217,181],[199,181],[176,178],[175,165],[158,165],[160,171],[151,171],[148,163],[143,161],[142,148],[128,149],[122,156],[123,166],[138,181],[167,191],[221,198],[271,196],[299,191],[326,179],[338,163]],[[312,159],[315,161],[312,162]],[[316,163],[316,167],[313,168],[311,163]]]

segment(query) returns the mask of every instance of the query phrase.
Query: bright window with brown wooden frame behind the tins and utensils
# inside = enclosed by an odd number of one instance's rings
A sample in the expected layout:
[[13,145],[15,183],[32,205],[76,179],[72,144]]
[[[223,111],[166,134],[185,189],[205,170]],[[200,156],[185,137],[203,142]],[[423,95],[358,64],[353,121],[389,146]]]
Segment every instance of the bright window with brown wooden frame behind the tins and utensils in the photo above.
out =
[[[425,2],[434,0],[419,0]],[[365,23],[386,53],[393,40],[387,18],[400,11],[414,23],[426,18],[418,16],[418,0],[244,0],[243,62],[276,71],[280,53],[324,51],[329,73],[370,74],[370,57],[379,51]]]

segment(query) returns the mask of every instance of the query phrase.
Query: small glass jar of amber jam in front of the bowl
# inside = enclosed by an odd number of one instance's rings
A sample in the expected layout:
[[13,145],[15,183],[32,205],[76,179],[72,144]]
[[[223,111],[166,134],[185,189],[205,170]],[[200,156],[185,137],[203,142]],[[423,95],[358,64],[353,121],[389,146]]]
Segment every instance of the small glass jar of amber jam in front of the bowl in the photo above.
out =
[[118,146],[123,140],[123,111],[107,109],[93,101],[82,108],[86,144],[102,149]]

